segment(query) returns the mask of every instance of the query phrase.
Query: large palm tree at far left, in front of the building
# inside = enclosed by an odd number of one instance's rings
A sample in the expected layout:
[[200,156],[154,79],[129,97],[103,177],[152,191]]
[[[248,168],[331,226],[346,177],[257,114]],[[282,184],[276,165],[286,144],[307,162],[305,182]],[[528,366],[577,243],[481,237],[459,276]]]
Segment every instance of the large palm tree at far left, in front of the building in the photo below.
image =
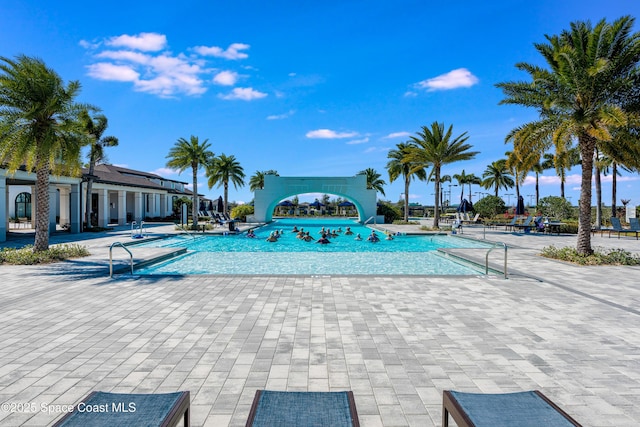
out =
[[49,248],[49,175],[79,174],[80,150],[88,138],[74,100],[80,83],[62,78],[37,58],[0,57],[0,163],[36,173],[36,233],[33,250]]

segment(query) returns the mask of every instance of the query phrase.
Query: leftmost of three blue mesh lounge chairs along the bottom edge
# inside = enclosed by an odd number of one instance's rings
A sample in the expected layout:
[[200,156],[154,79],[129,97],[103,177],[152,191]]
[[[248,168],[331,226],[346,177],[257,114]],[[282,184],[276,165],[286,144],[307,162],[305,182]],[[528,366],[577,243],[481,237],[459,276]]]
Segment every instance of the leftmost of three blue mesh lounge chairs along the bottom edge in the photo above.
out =
[[189,392],[125,394],[94,391],[54,427],[189,426]]

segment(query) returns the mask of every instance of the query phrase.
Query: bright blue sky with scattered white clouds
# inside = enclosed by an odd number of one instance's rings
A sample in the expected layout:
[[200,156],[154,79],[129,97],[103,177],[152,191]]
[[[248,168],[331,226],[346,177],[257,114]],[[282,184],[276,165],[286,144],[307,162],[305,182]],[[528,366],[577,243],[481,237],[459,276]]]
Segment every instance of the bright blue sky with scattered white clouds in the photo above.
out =
[[[108,150],[115,165],[188,182],[190,171],[167,169],[166,155],[196,135],[216,155],[235,155],[247,182],[258,170],[352,176],[372,167],[388,183],[388,151],[434,121],[467,132],[480,152],[443,172],[481,176],[509,150],[507,132],[536,117],[498,105],[495,87],[526,78],[517,62],[542,65],[534,43],[573,21],[638,12],[633,0],[2,0],[0,55],[37,56],[65,81],[79,80],[79,100],[100,107],[106,134],[120,140]],[[574,204],[579,174],[574,167],[566,186]],[[218,197],[221,188],[207,188],[201,175],[198,191]],[[640,203],[639,180],[622,177],[618,199]],[[382,198],[399,200],[400,181]],[[559,195],[554,171],[541,183],[542,196]],[[433,203],[432,185],[415,181],[410,193]],[[521,193],[528,202],[531,180]],[[248,185],[230,191],[231,200],[252,197]]]

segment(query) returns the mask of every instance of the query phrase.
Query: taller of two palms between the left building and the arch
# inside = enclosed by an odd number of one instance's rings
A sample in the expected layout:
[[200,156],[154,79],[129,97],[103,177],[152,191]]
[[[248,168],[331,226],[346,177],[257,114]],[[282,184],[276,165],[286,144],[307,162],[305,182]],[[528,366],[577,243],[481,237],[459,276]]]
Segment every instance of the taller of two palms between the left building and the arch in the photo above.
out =
[[180,173],[191,168],[193,182],[191,218],[194,228],[198,226],[198,170],[203,166],[206,167],[213,158],[213,152],[209,147],[211,144],[208,139],[200,143],[197,136],[191,135],[188,141],[185,138],[178,139],[166,157],[169,159],[167,167],[177,169]]

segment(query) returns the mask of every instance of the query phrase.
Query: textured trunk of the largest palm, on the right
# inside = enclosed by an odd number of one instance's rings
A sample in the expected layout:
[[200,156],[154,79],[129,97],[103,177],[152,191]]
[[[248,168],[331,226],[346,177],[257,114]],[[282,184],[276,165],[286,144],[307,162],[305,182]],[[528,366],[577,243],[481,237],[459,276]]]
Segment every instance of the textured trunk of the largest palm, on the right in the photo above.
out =
[[578,254],[586,256],[593,253],[591,248],[591,178],[593,175],[593,154],[596,140],[589,135],[580,135],[578,145],[582,156],[582,181],[580,183],[580,202],[578,216]]

